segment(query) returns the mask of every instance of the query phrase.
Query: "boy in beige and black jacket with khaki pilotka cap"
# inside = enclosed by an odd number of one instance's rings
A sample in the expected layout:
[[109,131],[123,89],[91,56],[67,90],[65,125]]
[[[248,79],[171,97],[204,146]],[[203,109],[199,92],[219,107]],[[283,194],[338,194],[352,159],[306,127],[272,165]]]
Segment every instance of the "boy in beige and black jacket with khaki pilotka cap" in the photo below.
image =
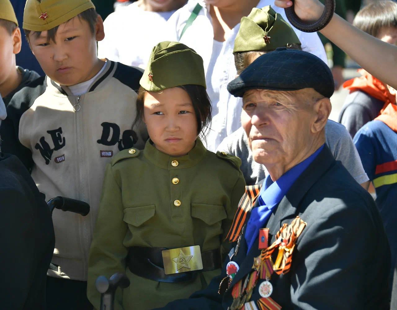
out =
[[11,100],[1,146],[31,171],[47,200],[90,204],[86,217],[54,213],[47,273],[48,308],[89,309],[88,251],[105,166],[119,150],[143,148],[147,138],[146,129],[133,126],[142,71],[97,58],[104,31],[90,0],[28,0],[23,29],[46,76]]

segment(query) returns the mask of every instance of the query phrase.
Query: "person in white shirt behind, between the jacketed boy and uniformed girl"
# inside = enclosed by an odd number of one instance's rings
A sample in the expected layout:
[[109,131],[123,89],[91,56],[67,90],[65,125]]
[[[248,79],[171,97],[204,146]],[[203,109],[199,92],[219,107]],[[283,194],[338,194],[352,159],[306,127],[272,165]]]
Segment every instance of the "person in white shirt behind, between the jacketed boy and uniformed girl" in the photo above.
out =
[[98,57],[145,69],[170,16],[187,0],[138,0],[110,14],[104,21],[105,39]]

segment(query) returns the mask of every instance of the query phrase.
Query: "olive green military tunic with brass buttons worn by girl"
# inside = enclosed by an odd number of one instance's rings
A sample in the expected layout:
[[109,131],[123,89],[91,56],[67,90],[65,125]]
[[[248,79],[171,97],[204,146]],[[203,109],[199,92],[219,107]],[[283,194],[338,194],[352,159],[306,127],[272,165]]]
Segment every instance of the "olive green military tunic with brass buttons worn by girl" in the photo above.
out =
[[[220,269],[204,271],[191,282],[164,283],[138,277],[125,265],[130,246],[201,251],[222,249],[237,205],[245,192],[241,164],[235,156],[214,154],[197,140],[189,154],[171,157],[148,141],[143,151],[119,152],[106,169],[102,198],[89,255],[87,295],[99,308],[99,275],[126,272],[131,285],[116,293],[116,308],[152,309],[204,289]],[[178,165],[174,167],[172,162]],[[172,183],[178,178],[177,184]],[[181,205],[175,206],[174,201]]]

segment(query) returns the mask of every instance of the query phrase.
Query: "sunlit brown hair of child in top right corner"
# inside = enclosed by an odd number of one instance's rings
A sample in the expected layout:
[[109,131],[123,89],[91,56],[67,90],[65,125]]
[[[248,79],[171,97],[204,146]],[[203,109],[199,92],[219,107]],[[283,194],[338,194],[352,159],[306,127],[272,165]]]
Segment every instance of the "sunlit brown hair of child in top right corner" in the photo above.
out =
[[397,3],[386,0],[364,6],[354,18],[353,26],[378,37],[381,28],[397,27]]

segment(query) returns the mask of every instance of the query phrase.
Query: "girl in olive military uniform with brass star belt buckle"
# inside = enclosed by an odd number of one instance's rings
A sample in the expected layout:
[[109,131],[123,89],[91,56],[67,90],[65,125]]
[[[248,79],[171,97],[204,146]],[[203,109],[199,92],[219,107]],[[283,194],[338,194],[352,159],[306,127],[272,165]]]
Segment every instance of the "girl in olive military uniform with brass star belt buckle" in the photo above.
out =
[[177,42],[154,47],[140,81],[137,118],[150,139],[106,169],[91,245],[88,297],[99,275],[125,272],[116,309],[152,309],[187,298],[220,274],[224,242],[245,181],[235,156],[204,147],[210,122],[201,57]]

